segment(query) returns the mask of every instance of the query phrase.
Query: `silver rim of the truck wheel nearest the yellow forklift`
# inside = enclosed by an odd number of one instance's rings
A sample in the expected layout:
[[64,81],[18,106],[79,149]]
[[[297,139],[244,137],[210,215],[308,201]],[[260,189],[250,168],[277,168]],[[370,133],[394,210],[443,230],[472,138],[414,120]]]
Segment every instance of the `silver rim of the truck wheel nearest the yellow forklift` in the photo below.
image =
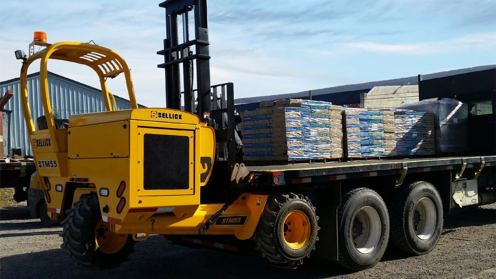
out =
[[353,219],[352,238],[355,248],[369,254],[379,244],[382,222],[379,213],[372,207],[361,208]]

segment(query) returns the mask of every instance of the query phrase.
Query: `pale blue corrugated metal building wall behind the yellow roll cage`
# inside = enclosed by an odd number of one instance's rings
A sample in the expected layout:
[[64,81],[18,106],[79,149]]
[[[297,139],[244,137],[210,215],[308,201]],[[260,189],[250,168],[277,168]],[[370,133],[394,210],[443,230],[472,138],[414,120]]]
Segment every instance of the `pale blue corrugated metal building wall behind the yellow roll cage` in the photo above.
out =
[[[50,72],[48,74],[48,88],[52,110],[59,112],[62,119],[67,119],[73,114],[105,111],[102,93],[95,88],[84,86]],[[32,155],[22,112],[19,80],[0,85],[0,93],[6,93],[8,90],[12,90],[14,96],[4,107],[4,110],[12,111],[10,113],[10,135],[4,135],[7,144],[4,146],[5,154],[9,154],[9,149],[12,147],[21,147],[22,155]],[[28,99],[31,116],[36,126],[36,118],[45,114],[40,97],[39,76],[28,77]],[[116,97],[116,104],[119,110],[131,108],[129,101],[122,98]]]

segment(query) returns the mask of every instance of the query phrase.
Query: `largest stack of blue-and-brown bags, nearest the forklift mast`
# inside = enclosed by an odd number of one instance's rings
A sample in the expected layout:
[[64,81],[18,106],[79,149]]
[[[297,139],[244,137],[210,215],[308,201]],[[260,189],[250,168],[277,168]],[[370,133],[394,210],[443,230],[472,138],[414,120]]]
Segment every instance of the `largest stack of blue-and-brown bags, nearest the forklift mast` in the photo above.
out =
[[242,113],[244,160],[342,158],[341,107],[329,102],[279,100]]

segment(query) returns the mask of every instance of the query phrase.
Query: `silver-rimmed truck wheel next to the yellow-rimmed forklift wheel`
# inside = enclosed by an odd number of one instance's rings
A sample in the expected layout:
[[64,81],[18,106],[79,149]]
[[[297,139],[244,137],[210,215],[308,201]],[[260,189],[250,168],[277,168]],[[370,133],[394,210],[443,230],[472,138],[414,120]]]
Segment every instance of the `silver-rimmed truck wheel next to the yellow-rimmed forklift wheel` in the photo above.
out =
[[338,265],[364,270],[380,261],[389,239],[389,216],[382,198],[368,188],[343,196],[338,208]]

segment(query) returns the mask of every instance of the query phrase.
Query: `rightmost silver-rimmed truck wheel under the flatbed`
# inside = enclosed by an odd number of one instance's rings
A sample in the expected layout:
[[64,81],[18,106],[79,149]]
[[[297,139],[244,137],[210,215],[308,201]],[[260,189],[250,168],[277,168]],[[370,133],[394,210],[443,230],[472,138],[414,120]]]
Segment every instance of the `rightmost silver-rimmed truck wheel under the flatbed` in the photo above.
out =
[[391,203],[391,240],[411,255],[431,252],[441,237],[442,202],[435,187],[418,181],[396,190]]

